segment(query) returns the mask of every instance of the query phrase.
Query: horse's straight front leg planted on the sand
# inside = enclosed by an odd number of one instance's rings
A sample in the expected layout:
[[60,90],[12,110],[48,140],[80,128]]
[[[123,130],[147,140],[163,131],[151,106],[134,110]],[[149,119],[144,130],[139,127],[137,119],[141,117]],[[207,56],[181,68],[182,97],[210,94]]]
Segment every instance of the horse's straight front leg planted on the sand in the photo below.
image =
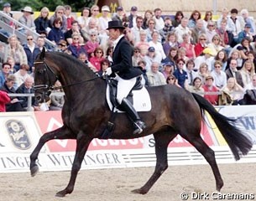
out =
[[92,138],[88,138],[88,136],[82,131],[80,131],[80,133],[78,134],[76,140],[76,155],[72,165],[70,182],[64,190],[56,193],[57,197],[64,197],[65,194],[73,192],[76,183],[77,173],[81,168],[81,162],[86,155],[86,151],[91,143],[91,140]]

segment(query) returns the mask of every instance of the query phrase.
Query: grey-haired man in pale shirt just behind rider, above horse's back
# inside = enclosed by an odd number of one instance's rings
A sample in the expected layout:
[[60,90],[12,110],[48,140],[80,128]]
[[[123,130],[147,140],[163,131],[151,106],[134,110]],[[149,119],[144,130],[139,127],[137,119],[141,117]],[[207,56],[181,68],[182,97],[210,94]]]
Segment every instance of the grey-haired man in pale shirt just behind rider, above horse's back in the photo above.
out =
[[153,62],[151,69],[147,72],[149,86],[166,85],[165,76],[159,72],[159,63]]

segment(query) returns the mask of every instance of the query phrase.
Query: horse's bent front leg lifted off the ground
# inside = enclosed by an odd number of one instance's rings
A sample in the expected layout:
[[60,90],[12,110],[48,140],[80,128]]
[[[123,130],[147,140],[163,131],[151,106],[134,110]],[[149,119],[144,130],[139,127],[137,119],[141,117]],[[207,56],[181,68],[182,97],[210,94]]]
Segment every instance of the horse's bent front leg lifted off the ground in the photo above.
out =
[[39,152],[41,148],[44,146],[44,143],[53,140],[53,139],[75,139],[76,135],[72,133],[67,127],[62,126],[55,131],[50,131],[45,133],[39,139],[39,143],[34,148],[34,151],[30,155],[30,173],[31,176],[34,177],[36,173],[39,172],[39,167],[36,164],[36,160],[38,159]]

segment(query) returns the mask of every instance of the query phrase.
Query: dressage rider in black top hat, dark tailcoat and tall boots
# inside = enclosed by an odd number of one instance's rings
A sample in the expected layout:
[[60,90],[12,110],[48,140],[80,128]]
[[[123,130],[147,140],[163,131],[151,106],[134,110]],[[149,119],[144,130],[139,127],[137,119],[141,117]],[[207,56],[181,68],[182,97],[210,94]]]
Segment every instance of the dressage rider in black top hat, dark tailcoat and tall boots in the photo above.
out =
[[135,85],[137,77],[142,74],[142,71],[133,67],[133,47],[124,37],[122,22],[108,22],[107,30],[109,31],[109,38],[113,40],[113,64],[107,68],[106,74],[115,75],[115,80],[118,80],[117,101],[133,120],[133,134],[139,134],[146,127],[145,123],[141,121],[137,111],[135,111],[126,97]]

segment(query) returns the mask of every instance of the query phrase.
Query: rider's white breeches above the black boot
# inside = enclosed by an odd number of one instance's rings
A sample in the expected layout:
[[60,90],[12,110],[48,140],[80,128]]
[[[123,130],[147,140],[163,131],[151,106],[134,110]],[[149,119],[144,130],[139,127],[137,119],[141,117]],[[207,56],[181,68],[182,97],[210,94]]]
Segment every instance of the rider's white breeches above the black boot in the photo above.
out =
[[118,80],[118,94],[117,101],[119,104],[122,103],[123,98],[126,98],[129,92],[132,90],[133,86],[136,84],[137,77],[134,77],[130,80],[123,80],[123,78],[118,75],[115,77],[115,80]]

